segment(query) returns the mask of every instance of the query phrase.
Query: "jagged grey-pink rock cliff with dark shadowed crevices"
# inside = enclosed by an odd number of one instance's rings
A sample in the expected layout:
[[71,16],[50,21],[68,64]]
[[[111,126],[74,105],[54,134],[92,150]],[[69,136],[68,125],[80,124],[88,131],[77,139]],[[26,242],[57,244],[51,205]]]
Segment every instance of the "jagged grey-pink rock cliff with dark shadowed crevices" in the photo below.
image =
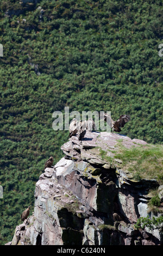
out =
[[12,245],[162,244],[158,230],[134,227],[137,218],[152,217],[149,190],[159,184],[135,181],[121,168],[121,160],[111,161],[120,139],[127,148],[146,144],[116,133],[86,131],[82,142],[73,136],[62,145],[65,157],[40,175],[34,213],[16,227]]

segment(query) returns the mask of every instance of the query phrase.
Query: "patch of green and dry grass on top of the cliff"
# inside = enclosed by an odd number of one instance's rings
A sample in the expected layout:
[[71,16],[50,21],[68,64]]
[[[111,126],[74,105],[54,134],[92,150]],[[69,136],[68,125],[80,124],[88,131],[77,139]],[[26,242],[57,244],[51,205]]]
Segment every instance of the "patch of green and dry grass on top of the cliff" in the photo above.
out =
[[163,146],[138,145],[130,149],[118,143],[114,156],[122,160],[122,168],[133,173],[135,179],[156,179],[163,184]]

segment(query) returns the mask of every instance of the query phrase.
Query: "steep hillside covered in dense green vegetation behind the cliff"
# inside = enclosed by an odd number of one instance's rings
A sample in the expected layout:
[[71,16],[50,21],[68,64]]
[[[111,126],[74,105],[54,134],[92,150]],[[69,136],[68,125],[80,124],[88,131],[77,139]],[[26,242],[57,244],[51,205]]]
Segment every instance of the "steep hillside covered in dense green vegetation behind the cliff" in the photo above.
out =
[[1,1],[1,244],[62,156],[54,111],[128,113],[124,135],[162,143],[162,22],[162,1]]

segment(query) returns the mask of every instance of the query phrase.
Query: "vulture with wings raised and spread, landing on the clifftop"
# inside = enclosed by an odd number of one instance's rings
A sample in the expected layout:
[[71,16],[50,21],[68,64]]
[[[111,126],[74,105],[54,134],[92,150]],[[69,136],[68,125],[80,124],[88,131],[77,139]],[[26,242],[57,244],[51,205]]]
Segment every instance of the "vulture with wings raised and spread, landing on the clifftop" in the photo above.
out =
[[130,115],[126,114],[126,115],[120,115],[120,118],[116,121],[112,120],[110,115],[104,113],[103,117],[104,120],[106,121],[106,118],[110,119],[110,124],[111,124],[111,128],[112,131],[115,132],[121,132],[121,128],[124,127],[124,125],[130,120]]

